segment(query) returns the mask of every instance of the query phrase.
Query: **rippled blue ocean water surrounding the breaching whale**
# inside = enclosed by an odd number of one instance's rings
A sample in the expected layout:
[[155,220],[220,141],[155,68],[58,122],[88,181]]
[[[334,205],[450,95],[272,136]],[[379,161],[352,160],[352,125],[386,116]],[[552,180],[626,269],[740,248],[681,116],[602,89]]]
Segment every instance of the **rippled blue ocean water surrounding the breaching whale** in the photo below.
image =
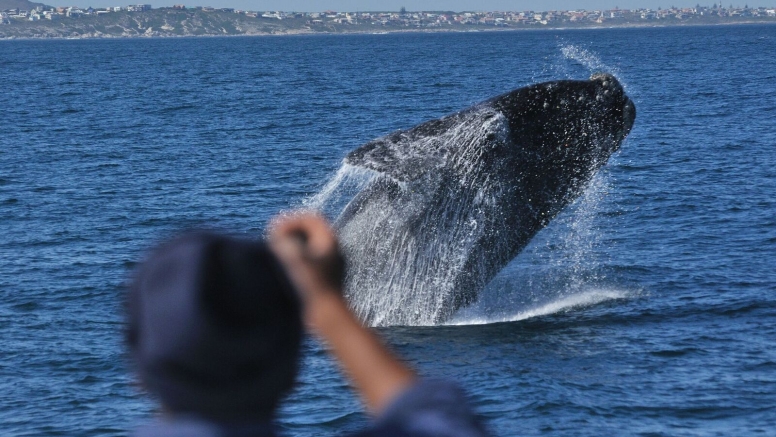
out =
[[[143,251],[259,236],[344,155],[533,82],[614,73],[629,138],[450,325],[381,328],[497,435],[776,435],[776,26],[0,43],[0,434],[127,435]],[[364,426],[321,346],[288,435]]]

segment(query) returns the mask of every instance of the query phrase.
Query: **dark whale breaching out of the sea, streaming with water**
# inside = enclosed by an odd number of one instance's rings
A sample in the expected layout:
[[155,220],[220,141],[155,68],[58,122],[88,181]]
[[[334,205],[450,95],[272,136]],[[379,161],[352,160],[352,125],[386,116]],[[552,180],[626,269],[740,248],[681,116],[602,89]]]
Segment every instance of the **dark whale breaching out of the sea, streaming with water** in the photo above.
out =
[[371,325],[430,325],[471,304],[576,199],[636,109],[617,79],[520,88],[373,140],[368,182],[335,221],[346,298]]

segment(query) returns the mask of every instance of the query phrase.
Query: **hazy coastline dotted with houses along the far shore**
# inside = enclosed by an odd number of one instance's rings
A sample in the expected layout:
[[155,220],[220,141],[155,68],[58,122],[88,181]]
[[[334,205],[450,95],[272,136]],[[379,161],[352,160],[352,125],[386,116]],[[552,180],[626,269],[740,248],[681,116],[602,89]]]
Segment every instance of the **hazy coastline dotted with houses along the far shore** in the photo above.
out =
[[[51,26],[45,25],[46,22],[59,24]],[[14,8],[0,12],[0,38],[382,33],[735,22],[776,22],[776,7],[733,7],[714,3],[710,6],[665,9],[446,12],[401,8],[399,11],[383,12],[288,12],[183,4],[165,8],[153,8],[150,4],[108,8],[36,4],[30,9]],[[204,24],[198,29],[196,23]],[[16,29],[11,31],[11,28]],[[62,29],[70,29],[70,33]]]

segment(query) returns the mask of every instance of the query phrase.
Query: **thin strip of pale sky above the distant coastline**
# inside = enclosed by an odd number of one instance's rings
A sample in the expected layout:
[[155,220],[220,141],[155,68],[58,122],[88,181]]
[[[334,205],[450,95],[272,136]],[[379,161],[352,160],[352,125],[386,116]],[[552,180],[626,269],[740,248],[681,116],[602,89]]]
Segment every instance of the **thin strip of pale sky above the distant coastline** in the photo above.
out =
[[[187,7],[212,6],[215,8],[237,8],[255,11],[299,11],[320,12],[325,10],[356,12],[356,11],[398,11],[404,6],[408,11],[548,11],[573,9],[622,9],[667,8],[670,6],[691,7],[696,4],[711,6],[719,0],[98,0],[93,1],[95,7],[122,6],[124,4],[150,3],[153,7],[172,6],[181,3]],[[99,3],[99,5],[97,4]],[[729,6],[730,0],[724,0]],[[757,1],[733,1],[733,6],[774,6],[776,0],[759,4]]]

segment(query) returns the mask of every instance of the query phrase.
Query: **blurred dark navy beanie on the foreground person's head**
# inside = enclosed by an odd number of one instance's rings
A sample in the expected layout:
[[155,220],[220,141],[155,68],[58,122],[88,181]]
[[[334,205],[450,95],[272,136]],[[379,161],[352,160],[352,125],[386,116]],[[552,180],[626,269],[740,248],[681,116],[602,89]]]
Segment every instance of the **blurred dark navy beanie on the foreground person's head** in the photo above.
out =
[[138,373],[173,413],[269,418],[294,383],[300,304],[263,242],[196,232],[160,246],[128,310]]

